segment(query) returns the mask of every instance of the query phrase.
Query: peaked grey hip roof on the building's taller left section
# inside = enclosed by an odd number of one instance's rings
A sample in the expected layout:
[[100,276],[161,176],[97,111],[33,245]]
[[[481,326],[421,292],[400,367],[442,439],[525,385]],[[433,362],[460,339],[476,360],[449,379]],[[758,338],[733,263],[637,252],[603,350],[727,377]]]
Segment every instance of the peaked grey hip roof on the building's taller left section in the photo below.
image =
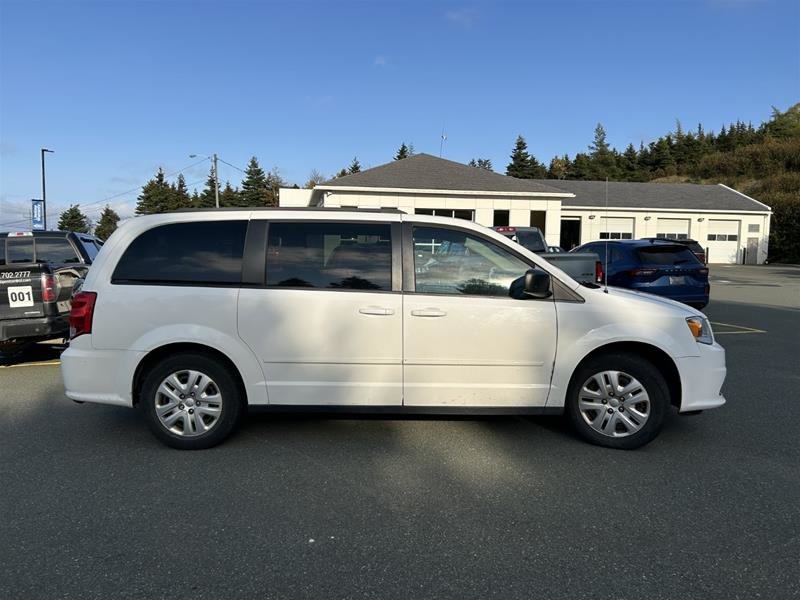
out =
[[558,194],[553,182],[516,179],[486,169],[469,167],[430,154],[414,154],[402,160],[367,169],[353,175],[331,179],[316,189],[390,188],[413,190],[456,190],[470,192],[500,192],[514,194]]

